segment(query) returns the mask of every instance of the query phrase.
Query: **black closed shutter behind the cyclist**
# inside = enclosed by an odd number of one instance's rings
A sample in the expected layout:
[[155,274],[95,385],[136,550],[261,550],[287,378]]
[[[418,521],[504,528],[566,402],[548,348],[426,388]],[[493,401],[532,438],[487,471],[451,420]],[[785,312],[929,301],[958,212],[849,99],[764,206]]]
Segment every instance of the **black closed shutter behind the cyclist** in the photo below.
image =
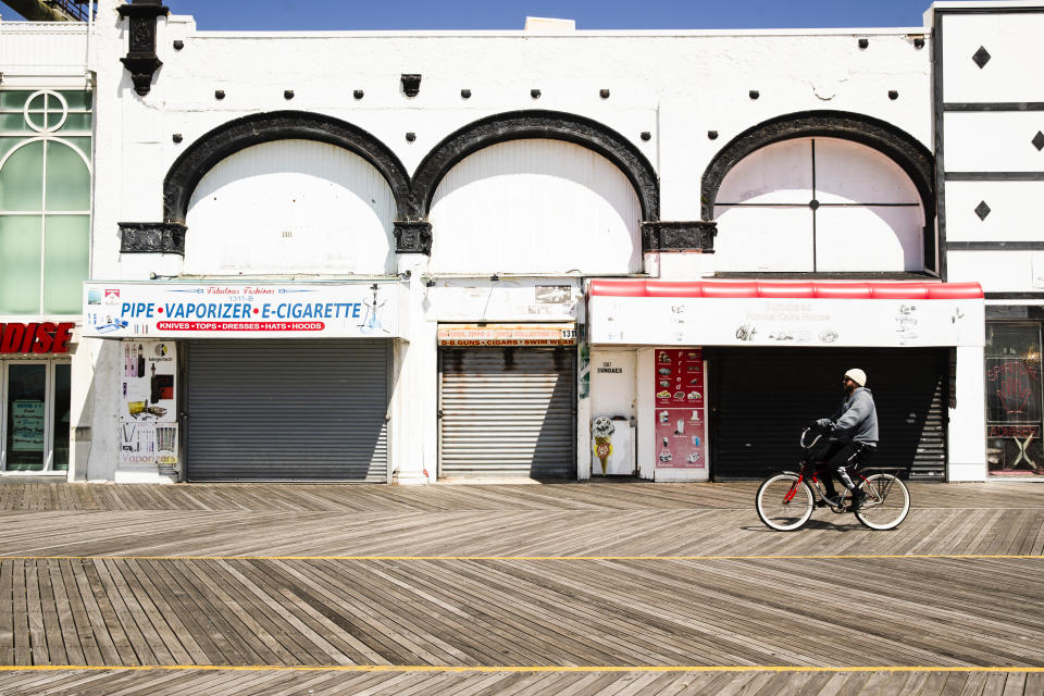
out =
[[881,442],[873,462],[946,475],[945,349],[737,348],[710,353],[713,471],[758,478],[792,468],[801,428],[833,413],[849,368],[867,372]]

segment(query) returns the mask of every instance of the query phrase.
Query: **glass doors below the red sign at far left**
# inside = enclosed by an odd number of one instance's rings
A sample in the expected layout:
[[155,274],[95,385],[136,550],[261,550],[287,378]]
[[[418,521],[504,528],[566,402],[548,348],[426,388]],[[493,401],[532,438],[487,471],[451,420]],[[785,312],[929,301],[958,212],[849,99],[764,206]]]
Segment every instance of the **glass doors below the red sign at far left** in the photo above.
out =
[[71,365],[11,361],[2,366],[3,471],[67,470]]

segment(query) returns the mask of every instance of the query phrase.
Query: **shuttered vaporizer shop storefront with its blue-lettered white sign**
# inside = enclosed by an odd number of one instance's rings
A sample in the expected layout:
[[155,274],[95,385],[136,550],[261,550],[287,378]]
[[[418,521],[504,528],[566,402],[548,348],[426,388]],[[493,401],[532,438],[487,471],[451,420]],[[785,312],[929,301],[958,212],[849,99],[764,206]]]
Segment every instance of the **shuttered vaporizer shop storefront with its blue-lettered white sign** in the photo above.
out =
[[87,284],[88,334],[123,341],[120,468],[389,481],[401,293],[391,281]]

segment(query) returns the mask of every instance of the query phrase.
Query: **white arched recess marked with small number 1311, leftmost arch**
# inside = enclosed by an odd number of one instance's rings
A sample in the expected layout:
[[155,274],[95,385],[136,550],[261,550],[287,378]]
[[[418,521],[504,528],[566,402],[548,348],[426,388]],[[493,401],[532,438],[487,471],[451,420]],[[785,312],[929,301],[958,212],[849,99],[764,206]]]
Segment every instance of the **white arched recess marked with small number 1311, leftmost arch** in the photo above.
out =
[[189,202],[187,274],[395,272],[395,197],[345,148],[273,140],[228,156]]

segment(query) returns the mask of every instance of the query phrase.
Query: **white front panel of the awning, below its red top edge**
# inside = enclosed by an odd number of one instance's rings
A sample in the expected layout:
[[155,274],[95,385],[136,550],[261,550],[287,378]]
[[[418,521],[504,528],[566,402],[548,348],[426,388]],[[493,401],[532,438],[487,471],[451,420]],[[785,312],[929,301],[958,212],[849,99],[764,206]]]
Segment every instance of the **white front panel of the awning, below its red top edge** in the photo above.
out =
[[594,345],[929,347],[984,345],[981,299],[595,296]]

